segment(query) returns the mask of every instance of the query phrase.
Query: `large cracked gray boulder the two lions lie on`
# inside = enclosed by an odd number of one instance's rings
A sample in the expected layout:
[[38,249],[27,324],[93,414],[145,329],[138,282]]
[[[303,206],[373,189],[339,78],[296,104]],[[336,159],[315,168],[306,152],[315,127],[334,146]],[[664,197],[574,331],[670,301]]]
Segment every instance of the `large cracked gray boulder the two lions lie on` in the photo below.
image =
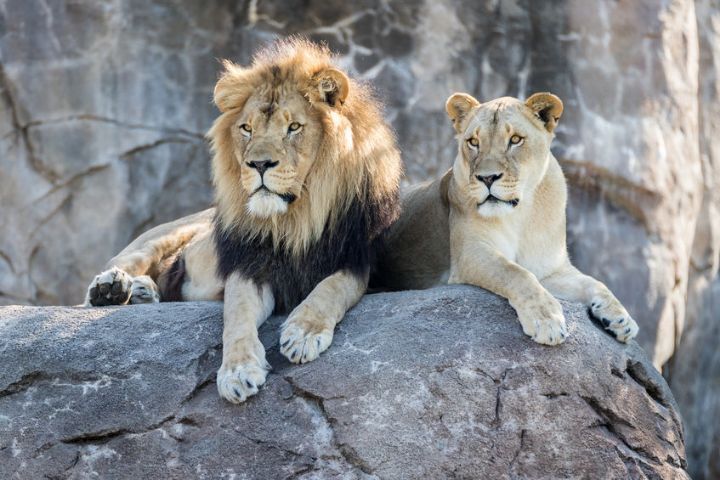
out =
[[672,394],[564,304],[559,347],[472,287],[366,296],[318,360],[218,397],[221,305],[0,309],[0,478],[688,478]]

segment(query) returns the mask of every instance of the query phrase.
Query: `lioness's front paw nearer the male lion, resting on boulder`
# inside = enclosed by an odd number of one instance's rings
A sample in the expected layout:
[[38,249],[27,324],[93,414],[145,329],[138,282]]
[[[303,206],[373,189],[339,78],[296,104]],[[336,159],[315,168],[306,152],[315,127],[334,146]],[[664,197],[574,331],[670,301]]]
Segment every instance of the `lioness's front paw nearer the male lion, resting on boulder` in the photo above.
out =
[[559,345],[567,337],[562,306],[549,293],[516,308],[526,335],[544,345]]

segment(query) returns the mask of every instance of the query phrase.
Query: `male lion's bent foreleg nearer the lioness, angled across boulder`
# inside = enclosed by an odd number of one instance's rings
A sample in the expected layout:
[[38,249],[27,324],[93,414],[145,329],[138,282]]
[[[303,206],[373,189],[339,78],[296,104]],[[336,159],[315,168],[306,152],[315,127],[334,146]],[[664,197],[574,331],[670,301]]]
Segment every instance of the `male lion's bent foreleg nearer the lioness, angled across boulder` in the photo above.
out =
[[293,363],[315,360],[332,343],[335,325],[363,296],[368,275],[346,270],[321,281],[282,325],[280,352]]

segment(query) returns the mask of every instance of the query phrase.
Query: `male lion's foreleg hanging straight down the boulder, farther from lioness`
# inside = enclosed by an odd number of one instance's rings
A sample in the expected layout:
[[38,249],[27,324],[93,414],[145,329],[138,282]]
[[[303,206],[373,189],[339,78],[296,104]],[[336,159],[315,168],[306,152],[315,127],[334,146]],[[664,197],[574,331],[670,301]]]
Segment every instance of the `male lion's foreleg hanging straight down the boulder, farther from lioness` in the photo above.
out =
[[275,300],[268,285],[239,274],[225,282],[223,361],[217,373],[220,395],[233,403],[258,392],[270,370],[258,327],[270,316]]

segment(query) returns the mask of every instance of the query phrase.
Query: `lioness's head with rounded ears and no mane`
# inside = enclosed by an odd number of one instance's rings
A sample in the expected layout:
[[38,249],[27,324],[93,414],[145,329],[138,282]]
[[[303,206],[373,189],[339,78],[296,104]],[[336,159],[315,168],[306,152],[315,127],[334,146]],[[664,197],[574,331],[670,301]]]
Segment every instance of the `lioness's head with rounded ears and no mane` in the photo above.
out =
[[504,97],[481,104],[455,94],[446,108],[458,134],[453,169],[460,190],[483,217],[512,212],[545,175],[562,102],[541,93],[525,103]]

